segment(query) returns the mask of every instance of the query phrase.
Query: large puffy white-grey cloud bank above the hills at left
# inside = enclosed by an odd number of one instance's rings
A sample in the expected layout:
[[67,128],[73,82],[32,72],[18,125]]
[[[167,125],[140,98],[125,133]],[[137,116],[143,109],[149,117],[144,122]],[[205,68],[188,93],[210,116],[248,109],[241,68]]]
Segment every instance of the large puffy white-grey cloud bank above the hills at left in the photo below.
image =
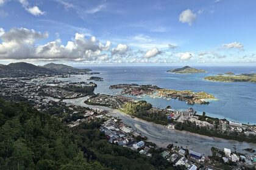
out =
[[[2,29],[3,30],[3,29]],[[84,34],[76,33],[73,41],[63,45],[61,39],[36,46],[38,39],[48,38],[48,33],[35,32],[29,29],[13,28],[0,37],[0,59],[42,59],[42,60],[73,60],[94,61],[107,60],[104,50],[110,49],[111,42],[105,45],[94,36],[85,38]]]

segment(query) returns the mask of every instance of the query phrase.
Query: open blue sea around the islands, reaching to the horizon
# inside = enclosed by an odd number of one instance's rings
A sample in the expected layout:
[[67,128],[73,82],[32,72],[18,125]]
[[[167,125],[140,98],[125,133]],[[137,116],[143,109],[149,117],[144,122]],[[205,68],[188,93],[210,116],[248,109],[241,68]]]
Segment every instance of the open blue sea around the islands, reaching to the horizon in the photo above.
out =
[[[218,101],[211,101],[208,105],[194,104],[192,107],[197,112],[201,113],[204,111],[212,117],[256,124],[256,83],[218,83],[204,80],[204,77],[218,73],[256,72],[256,67],[196,67],[207,70],[207,73],[198,74],[168,73],[166,70],[174,68],[168,66],[93,66],[89,68],[93,72],[101,72],[101,74],[96,76],[104,78],[103,82],[96,82],[98,87],[95,93],[113,94],[108,87],[119,83],[154,84],[168,89],[204,91],[215,95]],[[159,107],[166,107],[168,105],[174,109],[187,109],[191,107],[185,101],[174,99],[167,101],[163,98],[145,96],[140,98],[140,100],[146,100],[154,106],[160,104]]]

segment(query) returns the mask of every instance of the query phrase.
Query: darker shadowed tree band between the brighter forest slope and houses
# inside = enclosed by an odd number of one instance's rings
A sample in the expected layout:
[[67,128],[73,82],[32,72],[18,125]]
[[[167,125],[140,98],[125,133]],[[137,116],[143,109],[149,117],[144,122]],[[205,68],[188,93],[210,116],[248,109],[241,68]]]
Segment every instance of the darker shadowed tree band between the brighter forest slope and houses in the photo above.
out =
[[132,149],[108,143],[98,127],[101,121],[82,123],[74,129],[80,135],[82,144],[96,154],[98,161],[113,169],[174,169],[167,160],[155,153],[151,158]]

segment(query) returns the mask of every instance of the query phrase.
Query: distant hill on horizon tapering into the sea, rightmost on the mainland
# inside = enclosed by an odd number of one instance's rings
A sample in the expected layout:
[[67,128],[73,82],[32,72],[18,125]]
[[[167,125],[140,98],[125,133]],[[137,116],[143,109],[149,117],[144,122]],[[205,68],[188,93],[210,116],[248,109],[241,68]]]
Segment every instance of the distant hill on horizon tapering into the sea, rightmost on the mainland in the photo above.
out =
[[90,72],[90,69],[77,69],[71,66],[66,66],[65,64],[55,64],[49,63],[43,66],[46,69],[52,70],[59,73],[74,73],[74,72]]

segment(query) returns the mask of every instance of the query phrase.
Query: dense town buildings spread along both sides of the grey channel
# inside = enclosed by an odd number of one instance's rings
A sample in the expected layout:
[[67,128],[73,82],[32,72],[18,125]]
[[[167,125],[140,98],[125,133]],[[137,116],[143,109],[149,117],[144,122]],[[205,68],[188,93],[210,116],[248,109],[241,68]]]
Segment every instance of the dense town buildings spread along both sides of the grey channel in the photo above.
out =
[[[69,78],[69,76],[66,78]],[[99,130],[105,134],[109,143],[132,149],[146,157],[158,153],[174,166],[185,166],[186,169],[191,170],[222,169],[223,166],[227,166],[228,169],[234,167],[254,168],[256,166],[255,155],[231,152],[229,148],[223,150],[212,148],[213,155],[204,155],[204,153],[192,151],[185,146],[175,146],[173,143],[170,143],[168,148],[159,148],[156,144],[148,141],[146,136],[137,132],[136,129],[124,124],[118,117],[113,117],[107,110],[97,108],[97,106],[107,106],[113,109],[123,109],[126,103],[138,102],[138,98],[126,95],[153,95],[156,90],[162,90],[157,86],[119,84],[110,86],[110,89],[123,89],[121,95],[94,94],[93,90],[97,87],[95,83],[85,81],[72,83],[63,81],[63,79],[60,80],[59,76],[55,75],[51,77],[1,78],[0,87],[2,97],[9,100],[27,100],[38,110],[47,111],[55,110],[56,107],[62,108],[62,114],[54,114],[54,112],[49,112],[49,114],[60,118],[70,128],[77,127],[82,123],[104,120]],[[90,109],[68,105],[63,102],[65,99],[85,96],[90,96],[85,100],[85,103],[95,107]],[[210,95],[207,97],[212,98]],[[218,129],[223,134],[244,134],[245,138],[256,135],[255,126],[207,117],[205,113],[198,115],[192,107],[187,110],[176,110],[172,109],[171,106],[166,108],[152,107],[150,112],[163,115],[163,121],[160,121],[160,124],[163,123],[170,131],[172,129],[179,130],[179,124],[190,122],[198,128],[205,128],[207,132]],[[255,152],[253,148],[246,149],[252,154]]]

